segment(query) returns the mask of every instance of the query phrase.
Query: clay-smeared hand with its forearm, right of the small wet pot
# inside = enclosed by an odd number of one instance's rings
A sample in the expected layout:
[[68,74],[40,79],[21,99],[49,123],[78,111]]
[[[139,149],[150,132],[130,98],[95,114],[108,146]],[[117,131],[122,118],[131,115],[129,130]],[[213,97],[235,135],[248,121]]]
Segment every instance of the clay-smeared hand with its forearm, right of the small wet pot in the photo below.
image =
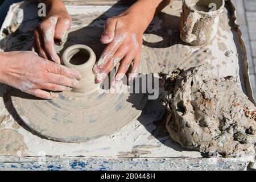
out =
[[100,60],[94,66],[96,81],[102,82],[108,73],[120,63],[112,86],[117,86],[131,65],[128,81],[137,76],[141,61],[142,36],[156,14],[171,0],[138,0],[119,16],[105,23],[101,42],[108,44]]

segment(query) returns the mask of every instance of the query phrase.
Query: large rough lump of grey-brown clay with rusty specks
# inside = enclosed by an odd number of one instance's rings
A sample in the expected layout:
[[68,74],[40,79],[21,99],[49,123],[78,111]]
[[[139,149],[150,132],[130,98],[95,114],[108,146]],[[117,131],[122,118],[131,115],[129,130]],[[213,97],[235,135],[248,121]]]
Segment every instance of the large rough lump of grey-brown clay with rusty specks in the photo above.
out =
[[220,78],[209,65],[160,74],[168,90],[166,127],[181,146],[228,157],[254,151],[256,107],[232,76]]

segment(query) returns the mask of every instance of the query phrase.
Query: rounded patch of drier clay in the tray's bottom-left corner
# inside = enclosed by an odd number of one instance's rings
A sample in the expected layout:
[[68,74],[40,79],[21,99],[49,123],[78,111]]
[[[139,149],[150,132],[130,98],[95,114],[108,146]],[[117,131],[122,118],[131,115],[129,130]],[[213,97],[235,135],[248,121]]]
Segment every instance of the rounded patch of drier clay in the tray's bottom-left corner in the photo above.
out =
[[26,155],[28,150],[23,136],[13,129],[0,130],[0,154]]

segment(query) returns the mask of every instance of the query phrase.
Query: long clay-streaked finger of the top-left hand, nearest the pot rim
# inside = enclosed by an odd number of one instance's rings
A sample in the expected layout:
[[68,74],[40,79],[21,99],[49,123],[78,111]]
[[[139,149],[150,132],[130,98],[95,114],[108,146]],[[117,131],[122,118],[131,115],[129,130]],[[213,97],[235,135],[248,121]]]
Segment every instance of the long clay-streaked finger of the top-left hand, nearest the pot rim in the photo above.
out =
[[49,57],[49,60],[60,64],[60,57],[57,55],[54,47],[54,36],[57,18],[51,16],[40,25],[40,31],[44,43],[44,50]]

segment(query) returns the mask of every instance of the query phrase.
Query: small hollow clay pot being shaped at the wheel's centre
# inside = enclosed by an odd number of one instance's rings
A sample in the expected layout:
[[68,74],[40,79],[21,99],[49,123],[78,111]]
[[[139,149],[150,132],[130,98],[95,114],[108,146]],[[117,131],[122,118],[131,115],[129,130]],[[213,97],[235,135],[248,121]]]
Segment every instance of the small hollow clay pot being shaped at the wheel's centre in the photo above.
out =
[[81,44],[68,47],[64,51],[61,60],[65,66],[76,69],[81,73],[82,88],[76,88],[72,91],[86,92],[95,88],[95,77],[92,69],[96,62],[96,55],[90,47]]

